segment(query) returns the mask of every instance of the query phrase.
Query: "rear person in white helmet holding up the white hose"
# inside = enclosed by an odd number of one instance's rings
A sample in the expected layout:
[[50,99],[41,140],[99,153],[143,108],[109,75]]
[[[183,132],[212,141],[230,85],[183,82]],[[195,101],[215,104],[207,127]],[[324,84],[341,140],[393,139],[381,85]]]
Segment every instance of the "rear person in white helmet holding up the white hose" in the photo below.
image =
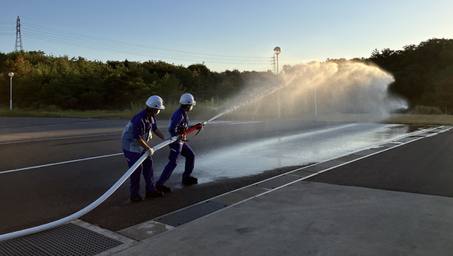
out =
[[131,174],[131,201],[143,200],[140,196],[140,175],[143,174],[146,183],[146,196],[147,197],[160,197],[163,196],[163,192],[157,191],[154,187],[154,167],[153,149],[147,145],[149,139],[151,139],[151,130],[160,139],[167,139],[164,137],[156,125],[156,114],[159,114],[160,110],[165,110],[163,106],[163,100],[157,95],[149,97],[146,102],[147,108],[140,111],[138,114],[131,119],[131,121],[124,128],[124,132],[121,139],[121,145],[126,157],[129,168],[137,162],[137,160],[144,154],[149,153],[147,159],[140,164]]

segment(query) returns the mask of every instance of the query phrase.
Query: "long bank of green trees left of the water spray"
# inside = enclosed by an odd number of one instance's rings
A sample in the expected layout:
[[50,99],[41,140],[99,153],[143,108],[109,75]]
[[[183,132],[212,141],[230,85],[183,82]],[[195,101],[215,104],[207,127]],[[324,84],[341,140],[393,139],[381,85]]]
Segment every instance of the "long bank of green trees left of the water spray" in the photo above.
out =
[[[43,51],[0,52],[0,70],[0,107],[9,107],[8,72],[13,71],[13,108],[38,110],[124,110],[131,103],[145,105],[154,94],[168,105],[186,92],[199,102],[228,99],[251,76],[236,69],[213,72],[204,63],[186,68],[160,60],[99,62],[80,56],[47,56]],[[255,73],[262,81],[275,77]]]

